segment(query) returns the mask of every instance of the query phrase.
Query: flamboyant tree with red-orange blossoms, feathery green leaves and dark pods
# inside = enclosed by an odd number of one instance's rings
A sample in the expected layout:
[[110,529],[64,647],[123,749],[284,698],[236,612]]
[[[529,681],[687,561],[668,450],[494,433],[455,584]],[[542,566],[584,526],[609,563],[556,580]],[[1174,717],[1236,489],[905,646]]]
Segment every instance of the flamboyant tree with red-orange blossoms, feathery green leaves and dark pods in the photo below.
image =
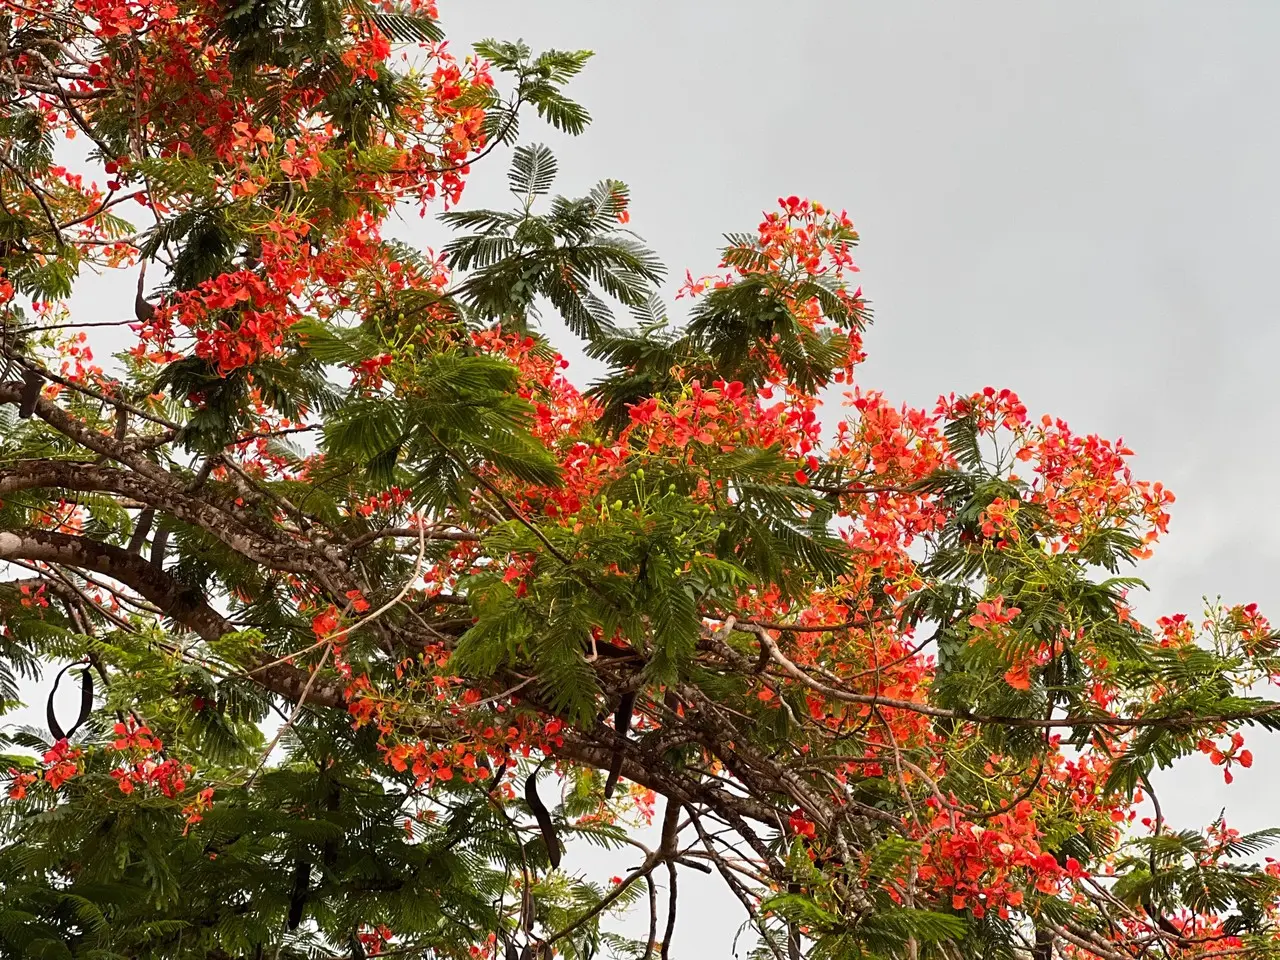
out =
[[780,960],[1280,952],[1270,833],[1152,794],[1280,716],[1253,607],[1126,605],[1169,492],[1007,389],[863,388],[815,202],[668,323],[626,187],[518,141],[586,59],[429,0],[0,3],[0,698],[81,691],[5,733],[0,954],[667,956],[689,869]]

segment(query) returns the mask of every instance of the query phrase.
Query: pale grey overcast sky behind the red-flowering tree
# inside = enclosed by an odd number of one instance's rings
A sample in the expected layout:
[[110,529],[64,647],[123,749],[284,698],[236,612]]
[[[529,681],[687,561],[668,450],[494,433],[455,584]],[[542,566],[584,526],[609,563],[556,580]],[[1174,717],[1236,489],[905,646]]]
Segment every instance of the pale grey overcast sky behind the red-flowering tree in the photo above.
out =
[[[778,196],[846,207],[876,312],[864,387],[918,406],[1009,387],[1033,415],[1124,436],[1179,498],[1139,613],[1221,594],[1280,621],[1280,5],[439,5],[458,50],[596,51],[572,87],[593,127],[526,138],[556,147],[562,189],[630,183],[632,227],[673,275],[714,269],[719,236]],[[504,202],[502,163],[466,205]],[[1165,777],[1170,819],[1275,822],[1280,741],[1251,746],[1233,788],[1199,758]],[[727,957],[737,905],[699,879],[673,955]]]

